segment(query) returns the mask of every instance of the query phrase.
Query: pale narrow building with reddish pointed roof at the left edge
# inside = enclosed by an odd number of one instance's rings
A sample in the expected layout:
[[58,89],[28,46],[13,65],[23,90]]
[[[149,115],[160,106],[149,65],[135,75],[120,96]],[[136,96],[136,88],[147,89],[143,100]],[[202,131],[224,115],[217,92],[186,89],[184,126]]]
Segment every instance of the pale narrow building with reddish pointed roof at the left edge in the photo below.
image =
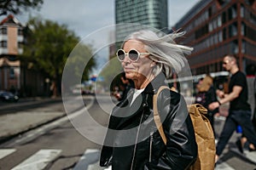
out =
[[20,88],[20,60],[22,54],[23,26],[9,15],[0,23],[0,89]]

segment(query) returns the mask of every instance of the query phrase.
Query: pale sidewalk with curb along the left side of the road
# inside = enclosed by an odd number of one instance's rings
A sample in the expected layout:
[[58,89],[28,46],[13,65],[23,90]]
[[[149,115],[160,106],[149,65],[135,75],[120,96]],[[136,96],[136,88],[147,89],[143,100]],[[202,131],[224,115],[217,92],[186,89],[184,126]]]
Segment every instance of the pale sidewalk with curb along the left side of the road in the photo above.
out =
[[[93,98],[83,97],[83,98]],[[75,101],[73,101],[75,102]],[[55,105],[52,105],[55,104]],[[29,107],[29,109],[28,109]],[[78,105],[69,106],[72,111],[78,111]],[[0,105],[0,144],[15,136],[25,133],[33,128],[53,122],[63,116],[67,116],[61,97],[23,99],[18,103]]]

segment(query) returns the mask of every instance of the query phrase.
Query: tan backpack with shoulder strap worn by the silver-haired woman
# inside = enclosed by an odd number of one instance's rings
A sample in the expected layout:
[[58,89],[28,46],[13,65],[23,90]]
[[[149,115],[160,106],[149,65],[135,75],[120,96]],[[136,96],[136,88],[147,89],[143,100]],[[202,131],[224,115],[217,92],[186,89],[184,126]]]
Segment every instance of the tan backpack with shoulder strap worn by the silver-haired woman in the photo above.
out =
[[[153,97],[154,122],[160,132],[160,136],[166,144],[166,135],[164,133],[160,115],[157,110],[157,97],[164,88],[161,86]],[[170,89],[170,88],[169,88]],[[215,138],[212,131],[212,126],[207,117],[207,109],[199,104],[188,105],[189,116],[191,117],[195,140],[198,146],[198,156],[195,163],[189,167],[189,170],[213,170],[215,164]]]

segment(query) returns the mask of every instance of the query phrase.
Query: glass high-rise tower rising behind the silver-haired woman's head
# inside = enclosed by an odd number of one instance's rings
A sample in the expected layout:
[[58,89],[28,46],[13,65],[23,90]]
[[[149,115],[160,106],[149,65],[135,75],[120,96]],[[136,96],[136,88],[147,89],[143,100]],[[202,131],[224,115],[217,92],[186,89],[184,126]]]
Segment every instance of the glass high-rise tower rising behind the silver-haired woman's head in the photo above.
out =
[[[167,0],[115,0],[116,42],[142,26],[168,31]],[[129,25],[138,24],[138,25]]]

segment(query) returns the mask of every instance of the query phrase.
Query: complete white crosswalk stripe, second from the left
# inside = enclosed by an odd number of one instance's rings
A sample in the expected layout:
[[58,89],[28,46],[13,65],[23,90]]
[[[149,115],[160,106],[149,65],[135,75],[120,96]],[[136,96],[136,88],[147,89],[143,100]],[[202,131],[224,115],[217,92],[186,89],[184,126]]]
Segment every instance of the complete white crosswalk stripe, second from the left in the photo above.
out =
[[50,161],[54,161],[61,150],[38,150],[37,153],[22,161],[12,170],[42,170]]

